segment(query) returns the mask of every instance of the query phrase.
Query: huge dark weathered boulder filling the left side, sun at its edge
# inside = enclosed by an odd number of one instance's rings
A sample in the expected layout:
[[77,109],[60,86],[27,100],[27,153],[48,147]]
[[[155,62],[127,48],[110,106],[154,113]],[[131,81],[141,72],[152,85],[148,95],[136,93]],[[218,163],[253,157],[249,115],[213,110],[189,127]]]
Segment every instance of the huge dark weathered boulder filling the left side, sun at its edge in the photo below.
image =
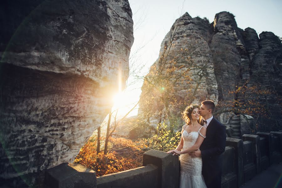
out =
[[125,85],[132,12],[127,0],[0,7],[0,178],[36,184],[26,175],[72,162]]

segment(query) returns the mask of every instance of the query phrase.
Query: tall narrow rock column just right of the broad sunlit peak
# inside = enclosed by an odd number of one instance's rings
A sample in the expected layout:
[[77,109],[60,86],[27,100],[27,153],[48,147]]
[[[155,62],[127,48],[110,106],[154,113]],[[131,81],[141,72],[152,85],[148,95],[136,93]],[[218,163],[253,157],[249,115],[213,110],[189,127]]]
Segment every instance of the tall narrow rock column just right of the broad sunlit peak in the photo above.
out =
[[219,100],[235,98],[234,91],[240,80],[241,58],[238,49],[244,50],[243,39],[234,16],[227,12],[217,13],[213,22],[214,34],[210,43]]

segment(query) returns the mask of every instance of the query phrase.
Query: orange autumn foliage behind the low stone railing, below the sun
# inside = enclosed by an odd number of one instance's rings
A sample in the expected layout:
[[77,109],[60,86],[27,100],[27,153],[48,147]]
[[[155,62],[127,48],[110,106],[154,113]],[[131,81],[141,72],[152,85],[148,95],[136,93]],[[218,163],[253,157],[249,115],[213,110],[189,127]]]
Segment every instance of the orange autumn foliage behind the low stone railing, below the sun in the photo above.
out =
[[142,156],[147,146],[144,142],[133,142],[124,138],[110,138],[112,149],[105,155],[97,154],[97,140],[93,137],[81,148],[74,163],[96,171],[97,176],[121,172],[142,166]]

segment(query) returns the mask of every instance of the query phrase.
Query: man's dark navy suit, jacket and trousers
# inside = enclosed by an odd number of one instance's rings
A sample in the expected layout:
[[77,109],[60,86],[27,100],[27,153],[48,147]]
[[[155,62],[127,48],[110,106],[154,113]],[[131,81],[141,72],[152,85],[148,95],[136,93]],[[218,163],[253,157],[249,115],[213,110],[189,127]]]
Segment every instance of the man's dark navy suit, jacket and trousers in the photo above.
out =
[[226,129],[214,117],[206,129],[206,138],[201,144],[204,176],[207,188],[220,188],[222,175],[222,156],[225,150]]

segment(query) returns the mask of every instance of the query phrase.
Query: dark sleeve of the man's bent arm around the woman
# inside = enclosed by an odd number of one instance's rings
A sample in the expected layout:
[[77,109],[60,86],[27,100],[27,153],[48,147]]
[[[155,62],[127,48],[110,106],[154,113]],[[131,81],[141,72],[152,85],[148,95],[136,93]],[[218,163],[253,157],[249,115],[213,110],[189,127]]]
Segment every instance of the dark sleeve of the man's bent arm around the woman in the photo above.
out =
[[220,125],[217,129],[216,144],[214,148],[209,148],[201,151],[203,157],[220,155],[225,151],[226,143],[226,129],[225,126]]

